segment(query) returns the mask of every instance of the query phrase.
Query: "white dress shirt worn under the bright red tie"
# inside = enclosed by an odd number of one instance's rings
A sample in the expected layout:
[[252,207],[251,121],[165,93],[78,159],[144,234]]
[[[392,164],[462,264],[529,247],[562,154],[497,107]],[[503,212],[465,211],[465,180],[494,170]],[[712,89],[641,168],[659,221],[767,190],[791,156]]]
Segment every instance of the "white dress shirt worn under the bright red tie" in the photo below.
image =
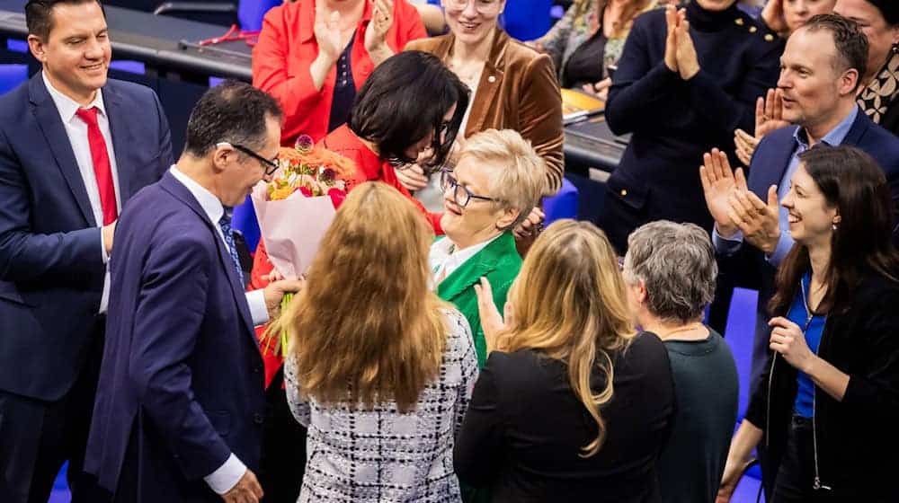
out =
[[[87,140],[87,123],[76,116],[78,109],[92,109],[96,107],[97,123],[100,126],[100,132],[103,135],[103,142],[106,143],[106,153],[109,154],[110,168],[112,171],[112,184],[115,187],[116,212],[121,211],[121,192],[119,190],[119,169],[115,162],[115,151],[112,147],[112,135],[110,133],[110,119],[106,115],[106,105],[103,103],[102,90],[98,89],[96,96],[93,97],[91,104],[82,107],[77,101],[69,98],[67,95],[59,92],[57,88],[50,84],[47,75],[43,72],[40,76],[44,80],[47,92],[53,99],[53,104],[59,112],[59,119],[66,128],[66,136],[68,143],[72,146],[72,152],[75,154],[75,161],[78,163],[78,171],[81,172],[81,179],[85,181],[85,189],[87,190],[87,199],[91,201],[91,210],[93,211],[93,220],[98,227],[103,224],[103,207],[100,203],[100,189],[97,187],[97,176],[93,172],[93,157],[91,157],[91,145]],[[109,262],[109,256],[106,254],[106,243],[103,243],[102,233],[100,234],[100,250],[102,253],[103,263]],[[110,298],[110,271],[109,266],[106,267],[106,275],[103,278],[103,293],[100,299],[99,313],[106,313],[106,306],[109,304]]]

